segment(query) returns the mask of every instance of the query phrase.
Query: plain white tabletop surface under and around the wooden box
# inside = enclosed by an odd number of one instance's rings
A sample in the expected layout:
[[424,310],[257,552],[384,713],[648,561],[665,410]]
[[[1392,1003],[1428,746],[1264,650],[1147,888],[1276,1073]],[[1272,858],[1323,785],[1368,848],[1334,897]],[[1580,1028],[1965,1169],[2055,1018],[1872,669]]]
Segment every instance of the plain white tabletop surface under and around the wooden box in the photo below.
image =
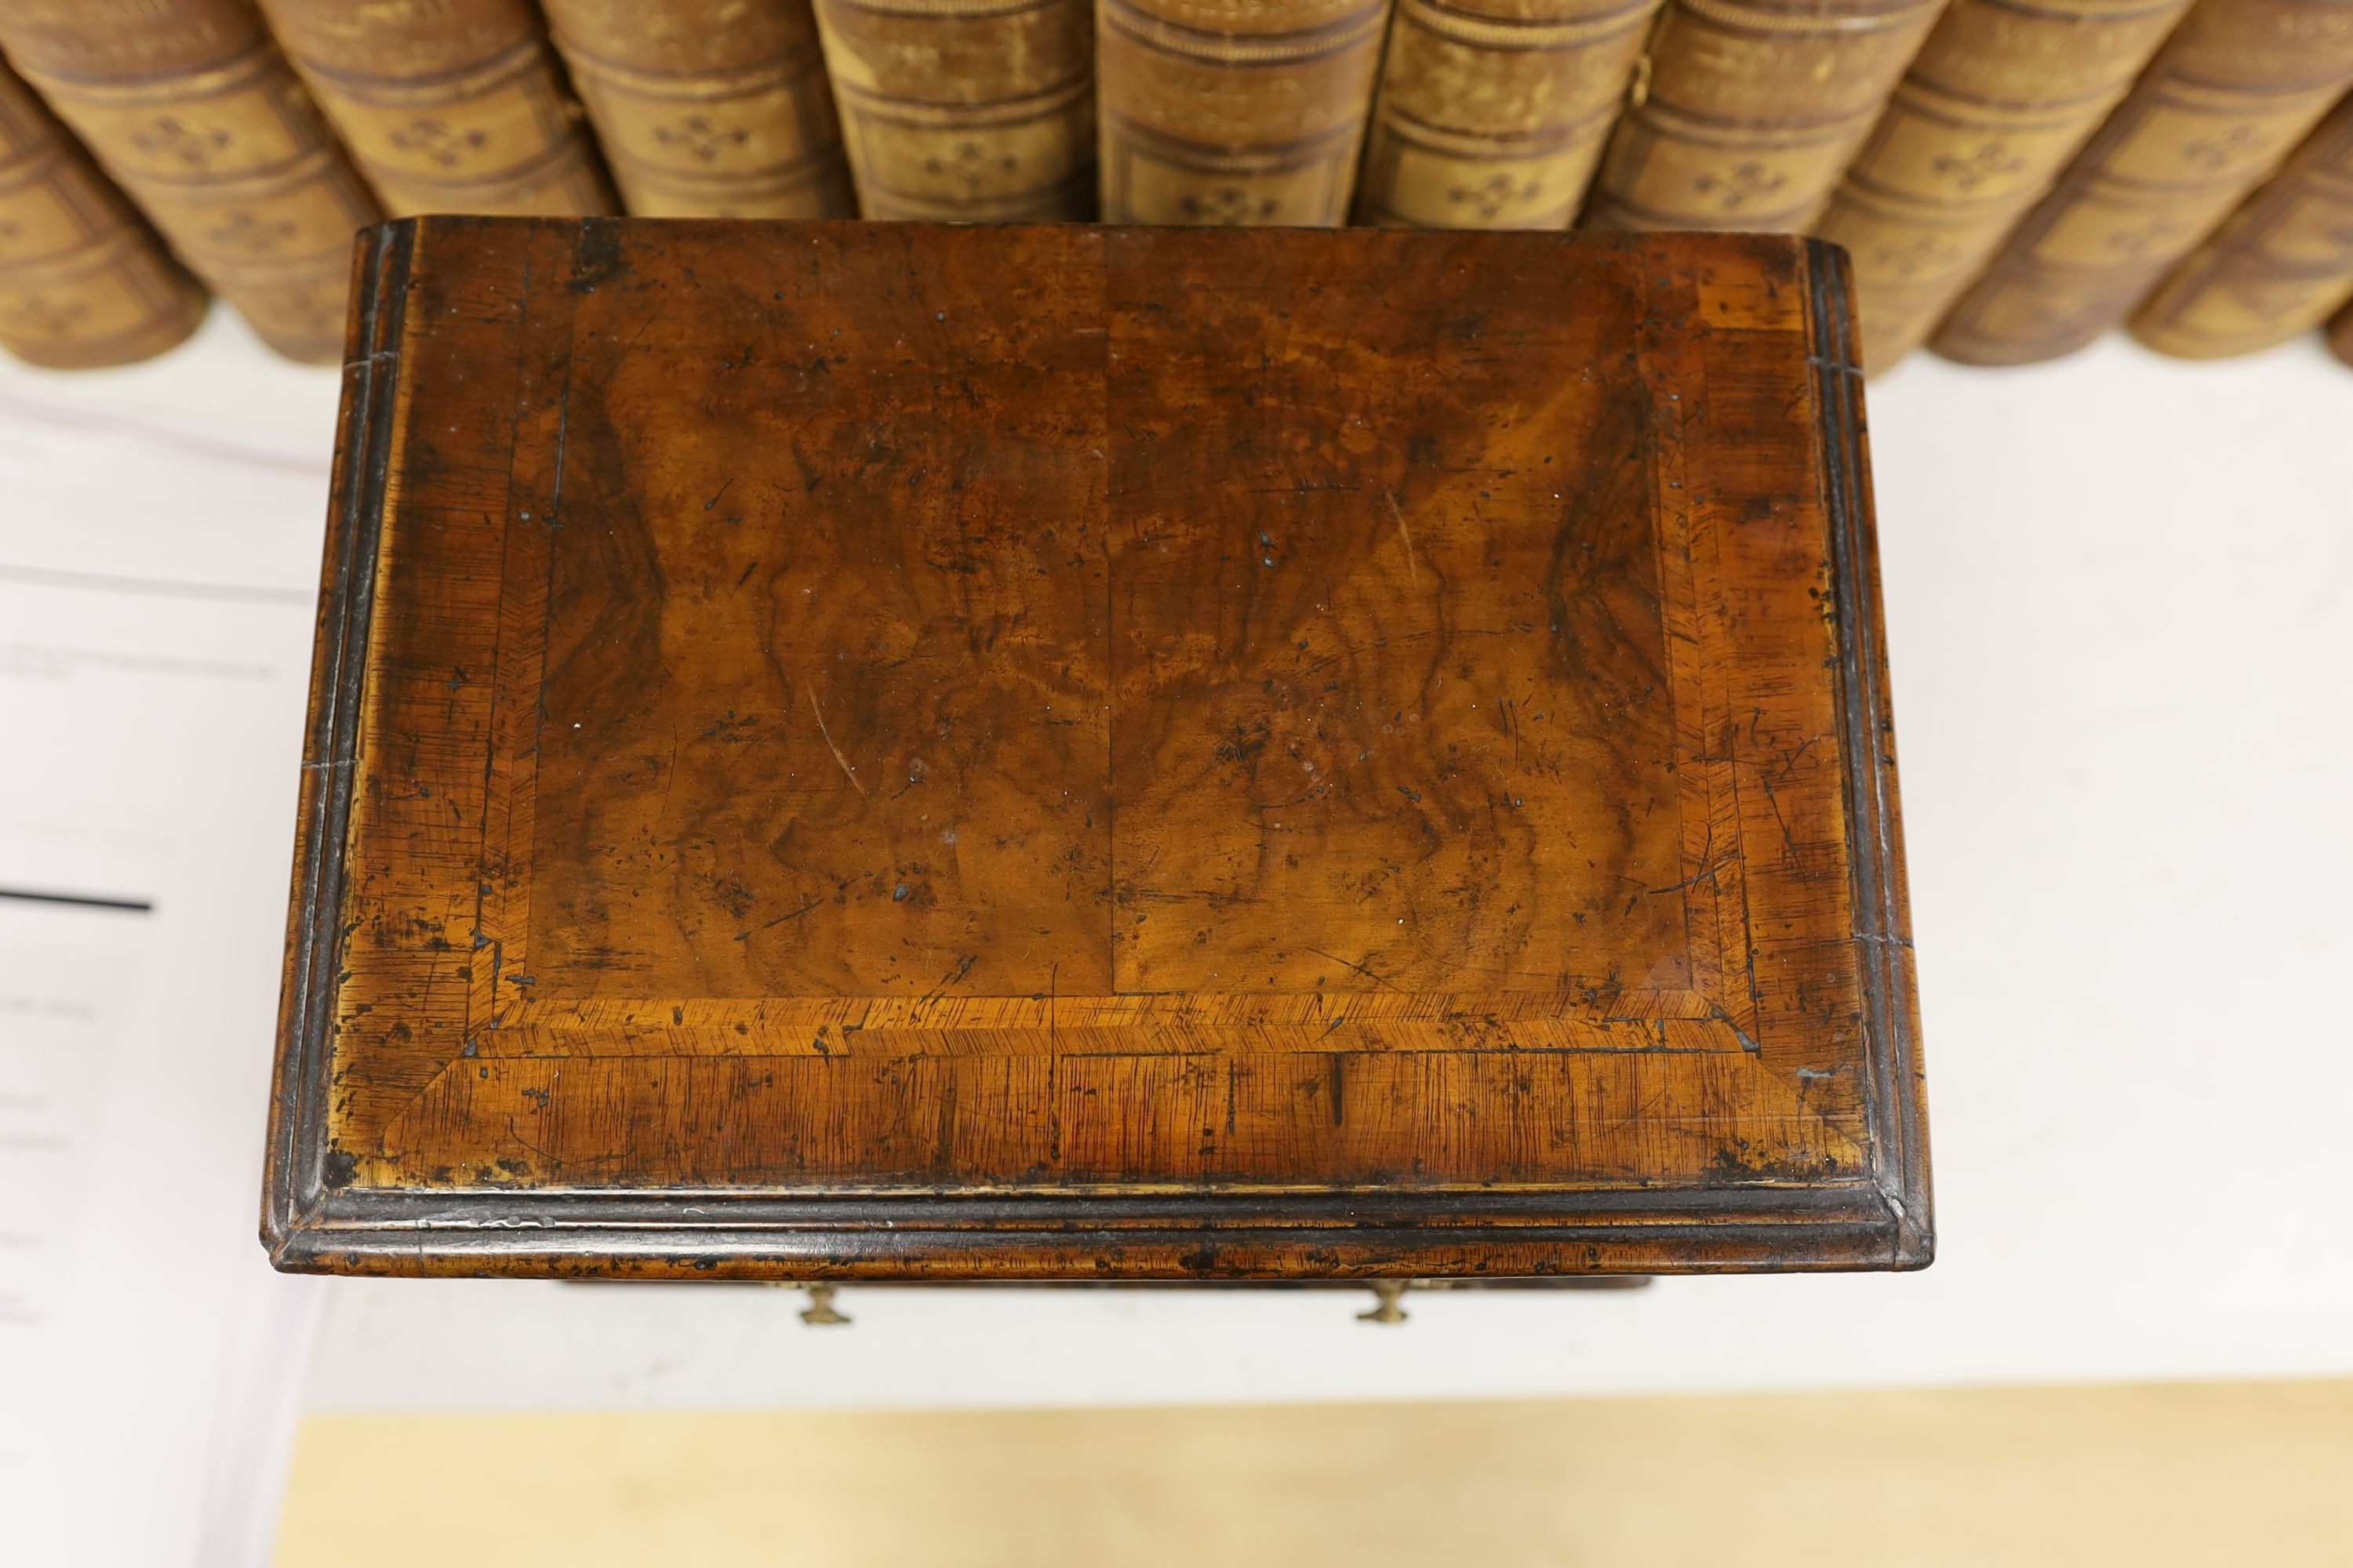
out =
[[[308,583],[334,397],[334,371],[266,357],[226,313],[146,367],[0,364],[0,416],[132,421],[315,473],[306,515],[282,475],[256,477],[249,517],[207,505],[162,541],[153,517],[92,503],[56,543],[68,564],[120,534],[184,569]],[[2353,1371],[2353,371],[2311,343],[2193,367],[2113,339],[2014,371],[1922,355],[1868,402],[1941,1237],[1927,1274],[1433,1295],[1400,1328],[1355,1324],[1346,1293],[845,1288],[856,1324],[805,1328],[769,1288],[334,1281],[311,1406]],[[275,722],[285,743],[200,762],[292,799],[299,691]],[[224,823],[282,886],[289,832]],[[219,926],[259,1098],[273,900],[224,898]]]

